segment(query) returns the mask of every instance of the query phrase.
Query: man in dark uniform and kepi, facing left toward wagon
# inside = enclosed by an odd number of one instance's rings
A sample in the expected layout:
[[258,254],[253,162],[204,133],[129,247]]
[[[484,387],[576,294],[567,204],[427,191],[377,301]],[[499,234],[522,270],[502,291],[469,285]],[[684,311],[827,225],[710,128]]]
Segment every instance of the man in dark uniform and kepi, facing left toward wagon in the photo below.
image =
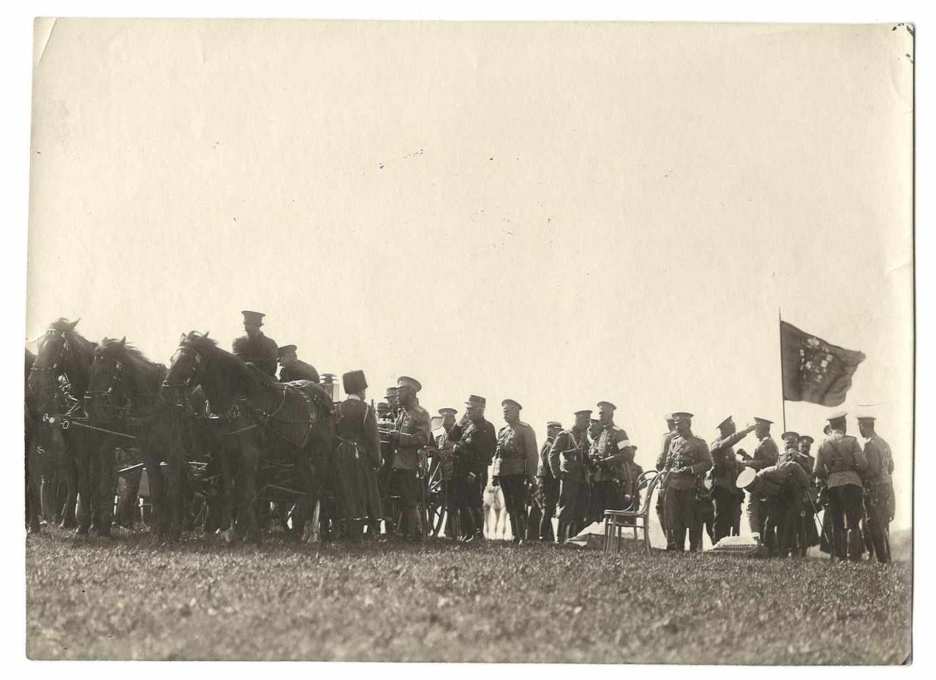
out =
[[448,439],[455,444],[454,481],[461,540],[484,538],[484,488],[497,448],[494,426],[484,417],[486,406],[484,397],[469,396],[461,420],[448,432]]

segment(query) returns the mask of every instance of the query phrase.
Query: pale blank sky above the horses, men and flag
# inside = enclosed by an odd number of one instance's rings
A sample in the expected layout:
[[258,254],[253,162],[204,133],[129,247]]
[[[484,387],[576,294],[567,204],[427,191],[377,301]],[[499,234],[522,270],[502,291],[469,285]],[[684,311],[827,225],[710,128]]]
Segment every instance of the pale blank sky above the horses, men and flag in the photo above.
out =
[[[912,52],[901,27],[37,23],[27,334],[168,362],[240,310],[320,372],[782,432],[783,318],[868,359],[912,465]],[[45,49],[43,51],[43,45]],[[41,53],[41,60],[38,55]],[[787,404],[820,438],[829,409]],[[857,434],[855,421],[850,427]],[[753,448],[753,441],[742,445]]]

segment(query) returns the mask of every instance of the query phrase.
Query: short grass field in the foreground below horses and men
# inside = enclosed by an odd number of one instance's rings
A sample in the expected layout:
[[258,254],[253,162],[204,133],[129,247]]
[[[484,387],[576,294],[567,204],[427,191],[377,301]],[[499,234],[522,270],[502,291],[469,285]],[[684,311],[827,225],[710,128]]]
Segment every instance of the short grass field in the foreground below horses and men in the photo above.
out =
[[908,562],[539,544],[26,546],[30,658],[897,664]]

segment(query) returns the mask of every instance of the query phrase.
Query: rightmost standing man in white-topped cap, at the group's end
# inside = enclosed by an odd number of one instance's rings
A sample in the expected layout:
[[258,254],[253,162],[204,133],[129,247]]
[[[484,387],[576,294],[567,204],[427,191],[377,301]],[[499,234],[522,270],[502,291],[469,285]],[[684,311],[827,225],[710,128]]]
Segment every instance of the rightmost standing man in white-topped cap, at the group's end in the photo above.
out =
[[890,445],[874,431],[873,416],[858,416],[858,430],[865,439],[868,469],[864,474],[865,513],[871,545],[878,562],[890,562],[889,526],[894,517],[894,457]]

